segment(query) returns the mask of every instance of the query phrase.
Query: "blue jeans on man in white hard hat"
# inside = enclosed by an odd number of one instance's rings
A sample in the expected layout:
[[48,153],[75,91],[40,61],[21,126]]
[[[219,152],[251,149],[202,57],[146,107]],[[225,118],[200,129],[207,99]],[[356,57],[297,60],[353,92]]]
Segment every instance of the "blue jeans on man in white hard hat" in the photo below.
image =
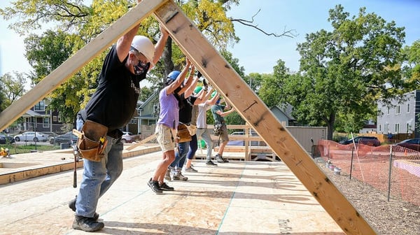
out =
[[106,136],[106,140],[108,144],[101,162],[83,159],[83,179],[76,200],[76,215],[92,218],[96,212],[99,197],[109,190],[123,172],[121,138]]

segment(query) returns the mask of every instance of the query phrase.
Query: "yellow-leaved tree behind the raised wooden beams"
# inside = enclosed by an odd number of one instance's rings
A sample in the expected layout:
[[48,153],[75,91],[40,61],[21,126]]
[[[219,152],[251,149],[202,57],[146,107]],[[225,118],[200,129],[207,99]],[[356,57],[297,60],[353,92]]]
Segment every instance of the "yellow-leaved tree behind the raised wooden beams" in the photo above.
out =
[[[92,41],[104,29],[127,13],[130,8],[137,4],[137,1],[92,0],[89,6],[85,5],[85,3],[86,1],[83,0],[17,0],[11,2],[10,7],[0,9],[0,15],[4,20],[11,20],[19,16],[9,27],[21,35],[27,35],[30,32],[40,29],[42,30],[45,24],[52,25],[52,31],[57,31],[57,36],[62,39],[64,48],[68,49],[67,47],[69,46],[72,49],[71,55],[73,55],[73,53],[83,48],[86,43]],[[227,45],[237,43],[239,40],[235,36],[235,29],[232,22],[239,22],[255,27],[255,29],[267,34],[253,24],[253,20],[232,19],[226,16],[226,11],[232,6],[238,5],[239,0],[188,0],[176,1],[176,3],[195,22],[198,29],[202,31],[215,48],[222,52],[225,51]],[[48,34],[52,35],[51,32]],[[141,22],[139,34],[148,36],[154,43],[158,40],[160,36],[159,24],[153,16],[147,17]],[[267,35],[277,37],[289,36],[290,31],[285,31],[280,35]],[[43,37],[48,38],[48,35],[45,34]],[[36,37],[32,38],[37,39]],[[38,39],[41,40],[41,37]],[[49,41],[52,43],[51,38]],[[29,41],[27,43],[28,45],[34,44]],[[45,43],[44,45],[47,44]],[[49,48],[45,48],[45,52],[36,50],[36,52],[31,53],[31,48],[27,46],[27,54],[34,56],[32,62],[37,66],[31,75],[36,82],[45,77],[46,71],[57,67],[56,64],[50,64],[50,66],[42,68],[41,64],[45,63],[38,61],[37,59],[40,57],[34,55],[46,55],[48,50]],[[61,57],[66,52],[68,51],[60,52],[57,56]],[[94,92],[95,87],[97,87],[97,76],[102,68],[102,61],[106,52],[103,52],[91,62],[85,64],[73,76],[72,82],[63,84],[60,90],[50,96],[52,98],[52,106],[66,106],[63,107],[65,111],[63,111],[62,116],[62,119],[66,120],[66,122],[74,117],[74,112],[78,111],[80,107],[85,106],[92,92]],[[185,57],[183,53],[169,39],[162,59],[155,66],[155,69],[148,74],[147,79],[153,84],[153,90],[162,87],[167,74],[174,69],[181,69],[184,62]],[[66,96],[66,100],[62,99],[65,97],[62,95],[64,94],[63,92],[71,92],[71,94]],[[57,100],[55,101],[55,99]]]

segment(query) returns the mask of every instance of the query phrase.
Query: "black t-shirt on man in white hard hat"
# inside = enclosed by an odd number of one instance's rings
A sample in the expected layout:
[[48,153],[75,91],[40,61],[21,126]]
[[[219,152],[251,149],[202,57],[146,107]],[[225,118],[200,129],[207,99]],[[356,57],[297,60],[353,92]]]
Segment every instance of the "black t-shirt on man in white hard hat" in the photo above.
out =
[[148,71],[146,69],[141,75],[134,75],[125,67],[127,58],[120,62],[116,45],[112,46],[99,74],[97,90],[85,108],[87,120],[103,124],[109,131],[130,122],[139,99],[140,81],[146,78]]

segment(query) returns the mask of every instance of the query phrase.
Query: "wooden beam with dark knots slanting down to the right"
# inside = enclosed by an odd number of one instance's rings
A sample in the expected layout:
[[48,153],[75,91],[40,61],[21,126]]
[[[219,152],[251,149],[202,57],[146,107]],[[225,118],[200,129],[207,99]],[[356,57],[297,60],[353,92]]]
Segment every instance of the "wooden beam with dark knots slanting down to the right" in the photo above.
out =
[[276,155],[281,157],[346,234],[376,234],[363,216],[337,190],[302,146],[173,1],[168,1],[156,10],[155,17],[164,24],[172,39],[193,61],[203,76],[210,80],[211,85],[221,92],[242,118],[251,124],[276,152]]

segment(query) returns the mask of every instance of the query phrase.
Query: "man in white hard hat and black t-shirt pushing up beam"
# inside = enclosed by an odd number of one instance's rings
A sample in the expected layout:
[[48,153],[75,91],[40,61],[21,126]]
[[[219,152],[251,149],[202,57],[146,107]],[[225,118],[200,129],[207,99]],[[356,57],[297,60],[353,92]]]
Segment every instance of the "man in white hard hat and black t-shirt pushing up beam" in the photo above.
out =
[[89,138],[78,140],[84,171],[78,196],[69,202],[69,207],[76,212],[73,229],[94,232],[104,227],[103,222],[97,221],[97,204],[123,171],[120,128],[130,122],[140,94],[139,83],[160,59],[169,36],[161,26],[162,35],[153,45],[149,38],[136,35],[138,30],[139,26],[134,27],[112,46],[102,65],[97,90],[78,113],[76,129],[81,129],[85,135],[97,134],[90,124],[106,131],[98,140],[99,159],[83,155],[86,145],[83,141],[90,141]]

